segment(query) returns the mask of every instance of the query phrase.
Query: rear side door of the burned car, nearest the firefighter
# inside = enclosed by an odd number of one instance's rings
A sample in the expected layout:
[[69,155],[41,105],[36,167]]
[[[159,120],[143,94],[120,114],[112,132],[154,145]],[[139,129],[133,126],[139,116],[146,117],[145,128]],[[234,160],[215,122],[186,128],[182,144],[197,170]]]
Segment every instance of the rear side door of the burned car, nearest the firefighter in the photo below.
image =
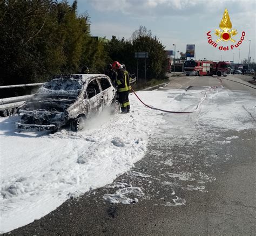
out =
[[114,96],[116,95],[116,89],[111,85],[111,82],[106,77],[98,79],[100,87],[102,88],[104,106],[110,106]]

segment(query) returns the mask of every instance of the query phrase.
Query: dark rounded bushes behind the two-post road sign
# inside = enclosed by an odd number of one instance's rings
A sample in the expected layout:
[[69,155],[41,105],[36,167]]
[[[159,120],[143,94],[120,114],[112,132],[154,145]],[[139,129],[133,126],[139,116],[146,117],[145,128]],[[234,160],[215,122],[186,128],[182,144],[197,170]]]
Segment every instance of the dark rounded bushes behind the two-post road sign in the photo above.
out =
[[[163,79],[167,67],[165,47],[150,30],[140,26],[132,34],[132,40],[117,39],[112,36],[107,45],[107,52],[112,61],[119,61],[126,65],[127,70],[137,73],[137,59],[134,52],[149,52],[146,61],[146,79]],[[139,80],[144,81],[145,59],[139,59]]]

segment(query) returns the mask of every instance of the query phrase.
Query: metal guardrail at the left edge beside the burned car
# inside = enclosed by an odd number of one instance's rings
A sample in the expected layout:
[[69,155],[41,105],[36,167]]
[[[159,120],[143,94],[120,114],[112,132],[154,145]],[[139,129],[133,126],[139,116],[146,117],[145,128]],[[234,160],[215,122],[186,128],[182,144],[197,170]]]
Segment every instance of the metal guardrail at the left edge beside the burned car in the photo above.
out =
[[[7,86],[0,86],[0,89],[39,86],[43,84],[45,83],[25,84],[25,85],[7,85]],[[9,116],[9,115],[15,114],[17,108],[21,106],[26,100],[30,99],[31,96],[33,96],[33,94],[0,99],[1,116]]]

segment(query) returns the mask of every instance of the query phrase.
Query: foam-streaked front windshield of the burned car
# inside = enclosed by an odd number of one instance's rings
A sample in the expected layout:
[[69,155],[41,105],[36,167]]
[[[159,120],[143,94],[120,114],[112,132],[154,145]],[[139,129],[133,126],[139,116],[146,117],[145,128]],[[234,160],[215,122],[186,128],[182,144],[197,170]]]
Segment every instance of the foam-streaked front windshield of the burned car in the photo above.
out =
[[39,89],[38,94],[58,94],[77,96],[83,87],[82,81],[76,79],[54,79]]

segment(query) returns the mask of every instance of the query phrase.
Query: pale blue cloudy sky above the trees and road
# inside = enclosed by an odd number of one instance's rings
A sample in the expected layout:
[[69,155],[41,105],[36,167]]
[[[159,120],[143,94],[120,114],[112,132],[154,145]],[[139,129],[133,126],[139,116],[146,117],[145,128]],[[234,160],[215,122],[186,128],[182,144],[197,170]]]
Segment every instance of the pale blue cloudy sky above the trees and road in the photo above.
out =
[[[69,2],[72,4],[73,1]],[[234,63],[238,63],[239,59],[248,59],[249,47],[251,61],[255,59],[255,6],[253,0],[78,0],[78,13],[89,14],[92,36],[111,39],[114,35],[129,39],[142,25],[157,36],[166,50],[174,50],[175,44],[176,52],[186,52],[187,44],[195,44],[194,59],[234,59]],[[214,32],[219,29],[225,8],[232,29],[238,32],[232,37],[235,43],[218,43],[218,47],[229,46],[228,51],[214,48],[206,36],[211,31],[214,41],[219,38]],[[230,46],[238,43],[242,31],[246,33],[245,39],[238,48],[231,50]]]

